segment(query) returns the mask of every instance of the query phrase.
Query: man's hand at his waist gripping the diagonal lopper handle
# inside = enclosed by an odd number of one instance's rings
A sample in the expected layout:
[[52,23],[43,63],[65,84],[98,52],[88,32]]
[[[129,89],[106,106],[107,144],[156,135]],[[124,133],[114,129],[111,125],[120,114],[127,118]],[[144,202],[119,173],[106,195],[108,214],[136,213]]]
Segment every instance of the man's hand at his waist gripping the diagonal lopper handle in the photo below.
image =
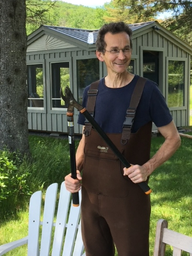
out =
[[124,175],[127,175],[132,182],[140,183],[147,180],[148,172],[143,166],[136,164],[129,168],[124,168]]

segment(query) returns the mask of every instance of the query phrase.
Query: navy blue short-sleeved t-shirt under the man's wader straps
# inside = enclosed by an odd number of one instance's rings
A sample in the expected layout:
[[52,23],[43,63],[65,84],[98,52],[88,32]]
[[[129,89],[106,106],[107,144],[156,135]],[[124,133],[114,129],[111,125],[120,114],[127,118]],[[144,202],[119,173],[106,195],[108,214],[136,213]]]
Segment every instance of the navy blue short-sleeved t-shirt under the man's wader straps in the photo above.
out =
[[[100,80],[94,119],[104,132],[122,133],[126,111],[138,78],[139,76],[134,76],[131,83],[120,88],[109,88],[104,84],[104,78]],[[84,108],[86,108],[89,88],[90,85],[84,89],[82,104]],[[84,125],[84,121],[83,114],[79,113],[78,124]],[[157,84],[147,80],[136,109],[131,132],[138,131],[141,126],[150,121],[154,122],[157,127],[161,127],[170,124],[172,115]]]

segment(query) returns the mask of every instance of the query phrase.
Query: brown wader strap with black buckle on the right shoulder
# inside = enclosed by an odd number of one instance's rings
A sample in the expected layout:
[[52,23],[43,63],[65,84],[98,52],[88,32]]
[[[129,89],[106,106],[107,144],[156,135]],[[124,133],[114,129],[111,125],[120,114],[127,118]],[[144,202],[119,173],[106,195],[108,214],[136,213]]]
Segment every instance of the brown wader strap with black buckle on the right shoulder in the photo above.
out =
[[146,81],[147,79],[143,77],[139,77],[136,83],[136,86],[134,88],[134,91],[132,93],[131,102],[129,104],[129,108],[127,109],[125,122],[123,125],[122,140],[121,140],[122,144],[126,144],[127,140],[129,140],[130,138],[131,127],[134,121],[134,115],[136,113],[136,108],[138,107],[138,104],[140,102],[141,95],[143,93],[143,88],[145,86]]

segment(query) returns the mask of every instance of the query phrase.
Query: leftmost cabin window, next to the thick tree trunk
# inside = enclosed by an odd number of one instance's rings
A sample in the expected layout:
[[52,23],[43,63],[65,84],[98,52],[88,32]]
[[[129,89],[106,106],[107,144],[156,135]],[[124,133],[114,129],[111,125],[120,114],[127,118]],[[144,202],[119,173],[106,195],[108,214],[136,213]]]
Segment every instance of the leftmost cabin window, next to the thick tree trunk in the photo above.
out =
[[28,65],[28,107],[44,108],[43,65]]

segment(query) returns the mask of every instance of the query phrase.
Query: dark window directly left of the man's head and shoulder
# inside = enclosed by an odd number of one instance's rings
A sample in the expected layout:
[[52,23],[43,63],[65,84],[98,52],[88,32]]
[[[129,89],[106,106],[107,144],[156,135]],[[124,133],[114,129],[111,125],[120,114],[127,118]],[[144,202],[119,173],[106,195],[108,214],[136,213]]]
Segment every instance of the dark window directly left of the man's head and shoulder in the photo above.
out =
[[80,104],[82,104],[84,88],[99,80],[99,77],[98,59],[77,60],[77,90]]

